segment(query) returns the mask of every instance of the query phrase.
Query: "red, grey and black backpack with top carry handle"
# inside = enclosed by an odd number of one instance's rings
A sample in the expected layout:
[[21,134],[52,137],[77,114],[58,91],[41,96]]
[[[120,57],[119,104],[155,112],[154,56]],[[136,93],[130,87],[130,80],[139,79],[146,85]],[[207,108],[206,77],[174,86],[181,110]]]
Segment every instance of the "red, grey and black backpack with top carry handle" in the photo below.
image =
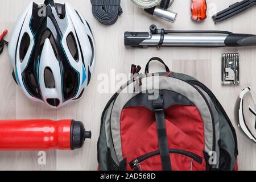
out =
[[[162,63],[166,72],[150,74],[153,60]],[[207,86],[170,72],[158,57],[148,61],[145,73],[139,74],[140,69],[132,65],[131,80],[102,113],[99,169],[237,170],[236,131]]]

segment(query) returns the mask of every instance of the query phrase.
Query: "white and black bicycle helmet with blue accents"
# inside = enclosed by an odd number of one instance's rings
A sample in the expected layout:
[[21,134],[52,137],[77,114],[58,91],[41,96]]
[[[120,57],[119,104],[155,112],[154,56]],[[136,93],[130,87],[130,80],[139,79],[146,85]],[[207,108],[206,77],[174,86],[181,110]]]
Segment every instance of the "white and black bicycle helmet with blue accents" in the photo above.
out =
[[69,3],[31,2],[10,38],[14,80],[28,98],[53,108],[78,100],[93,73],[94,47],[89,23]]

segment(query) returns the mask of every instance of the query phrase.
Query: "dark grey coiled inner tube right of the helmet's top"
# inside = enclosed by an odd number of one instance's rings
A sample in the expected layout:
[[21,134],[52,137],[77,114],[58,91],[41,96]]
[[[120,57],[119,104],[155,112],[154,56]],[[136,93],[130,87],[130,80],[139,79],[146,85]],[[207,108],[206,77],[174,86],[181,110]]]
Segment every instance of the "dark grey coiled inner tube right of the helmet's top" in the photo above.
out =
[[110,25],[117,22],[118,15],[123,13],[121,0],[90,0],[92,13],[101,24]]

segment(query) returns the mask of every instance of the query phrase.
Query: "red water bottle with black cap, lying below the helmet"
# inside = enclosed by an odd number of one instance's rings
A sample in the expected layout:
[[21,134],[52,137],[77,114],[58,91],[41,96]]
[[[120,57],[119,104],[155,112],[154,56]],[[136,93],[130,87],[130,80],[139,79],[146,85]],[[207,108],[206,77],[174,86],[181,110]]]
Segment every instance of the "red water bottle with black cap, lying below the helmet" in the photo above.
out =
[[91,135],[82,122],[71,119],[0,121],[0,150],[74,150]]

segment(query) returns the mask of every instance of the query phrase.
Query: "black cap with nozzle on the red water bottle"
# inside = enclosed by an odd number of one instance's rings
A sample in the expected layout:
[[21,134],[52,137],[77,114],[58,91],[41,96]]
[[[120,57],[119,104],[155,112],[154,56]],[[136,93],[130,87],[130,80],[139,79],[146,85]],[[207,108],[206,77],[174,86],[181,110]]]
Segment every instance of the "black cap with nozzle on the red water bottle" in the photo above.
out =
[[80,121],[71,123],[71,150],[82,148],[86,138],[91,138],[91,131],[85,131],[84,124]]

